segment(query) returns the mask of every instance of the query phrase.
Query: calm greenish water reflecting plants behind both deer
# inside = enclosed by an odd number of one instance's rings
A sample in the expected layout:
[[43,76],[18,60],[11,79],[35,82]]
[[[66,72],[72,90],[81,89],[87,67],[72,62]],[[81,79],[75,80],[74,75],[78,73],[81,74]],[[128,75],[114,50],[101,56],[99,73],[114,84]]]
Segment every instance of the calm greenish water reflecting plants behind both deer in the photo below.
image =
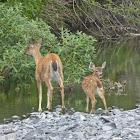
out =
[[[109,42],[103,41],[96,44],[97,54],[93,60],[95,65],[100,66],[105,60],[106,68],[103,71],[103,79],[112,82],[123,83],[127,81],[126,92],[109,91],[106,89],[107,106],[117,106],[124,110],[135,108],[136,103],[140,103],[140,42],[138,39],[127,41]],[[87,64],[89,65],[89,64]],[[36,82],[31,84],[31,92],[20,90],[16,92],[15,83],[7,80],[0,87],[0,123],[4,118],[13,115],[26,115],[38,109],[38,90]],[[53,95],[53,107],[61,104],[61,95],[57,85],[55,85]],[[97,96],[95,109],[103,108],[101,99]],[[43,85],[42,108],[47,105],[47,88]],[[85,112],[86,100],[81,84],[70,85],[65,88],[65,106],[74,108],[76,111]],[[91,103],[90,103],[91,108]]]

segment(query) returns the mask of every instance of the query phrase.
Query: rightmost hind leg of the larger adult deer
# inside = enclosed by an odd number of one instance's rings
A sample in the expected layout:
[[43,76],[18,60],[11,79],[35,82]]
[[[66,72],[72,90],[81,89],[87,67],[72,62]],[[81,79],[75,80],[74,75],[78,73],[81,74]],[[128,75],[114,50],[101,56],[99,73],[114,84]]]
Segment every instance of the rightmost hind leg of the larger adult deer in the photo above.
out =
[[62,111],[65,113],[65,104],[64,104],[64,85],[63,85],[63,79],[60,78],[59,80],[60,90],[61,90],[61,97],[62,97]]

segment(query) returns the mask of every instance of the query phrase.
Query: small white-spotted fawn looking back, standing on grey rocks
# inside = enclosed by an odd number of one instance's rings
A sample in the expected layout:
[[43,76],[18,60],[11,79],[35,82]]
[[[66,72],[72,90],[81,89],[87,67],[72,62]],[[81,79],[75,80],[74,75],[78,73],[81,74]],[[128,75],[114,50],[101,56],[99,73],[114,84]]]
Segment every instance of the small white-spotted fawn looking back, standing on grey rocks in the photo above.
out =
[[100,77],[102,77],[102,69],[104,69],[105,66],[106,66],[106,61],[102,64],[101,67],[95,67],[95,65],[92,62],[90,62],[89,67],[93,69],[94,72],[92,75],[85,77],[82,82],[82,88],[86,94],[86,102],[87,102],[86,112],[89,112],[88,110],[89,97],[91,98],[92,101],[92,108],[90,111],[91,114],[94,113],[94,106],[97,102],[97,100],[95,99],[95,94],[97,93],[101,97],[104,103],[106,115],[108,115],[106,100],[104,97],[104,89],[103,89],[102,82],[100,81]]

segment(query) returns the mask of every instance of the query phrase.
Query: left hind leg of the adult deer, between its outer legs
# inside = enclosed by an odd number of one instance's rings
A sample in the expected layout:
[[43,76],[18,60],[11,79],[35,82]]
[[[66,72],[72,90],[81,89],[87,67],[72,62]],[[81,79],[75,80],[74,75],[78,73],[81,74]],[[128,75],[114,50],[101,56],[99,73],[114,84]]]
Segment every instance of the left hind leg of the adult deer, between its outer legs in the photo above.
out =
[[51,110],[52,109],[53,87],[52,87],[52,84],[51,84],[50,81],[45,80],[45,83],[46,83],[46,85],[48,87],[48,91],[49,91],[48,94],[47,94],[47,96],[49,98],[49,99],[47,99],[47,101],[48,101],[47,108],[48,108],[48,110]]

